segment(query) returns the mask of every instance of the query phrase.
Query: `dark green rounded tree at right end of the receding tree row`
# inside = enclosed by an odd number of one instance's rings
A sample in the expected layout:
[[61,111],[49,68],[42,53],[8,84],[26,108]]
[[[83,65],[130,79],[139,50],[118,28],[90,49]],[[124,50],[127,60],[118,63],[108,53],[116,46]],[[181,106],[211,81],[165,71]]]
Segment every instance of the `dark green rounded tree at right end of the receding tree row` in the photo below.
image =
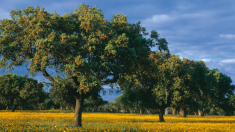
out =
[[219,102],[224,100],[225,95],[234,90],[234,87],[230,86],[232,80],[227,75],[217,69],[207,70],[206,73],[206,80],[199,83],[200,91],[198,90],[193,96],[199,102],[199,116],[204,116],[205,108],[219,106]]

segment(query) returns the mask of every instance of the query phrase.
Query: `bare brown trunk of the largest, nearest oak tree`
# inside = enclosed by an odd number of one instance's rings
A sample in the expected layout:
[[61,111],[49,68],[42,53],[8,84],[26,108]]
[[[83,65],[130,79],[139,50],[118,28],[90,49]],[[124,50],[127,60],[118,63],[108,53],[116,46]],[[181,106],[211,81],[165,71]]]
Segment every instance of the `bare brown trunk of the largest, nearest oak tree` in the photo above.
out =
[[74,111],[74,125],[77,127],[82,127],[82,110],[83,110],[83,103],[84,97],[75,97],[76,98],[76,106]]

